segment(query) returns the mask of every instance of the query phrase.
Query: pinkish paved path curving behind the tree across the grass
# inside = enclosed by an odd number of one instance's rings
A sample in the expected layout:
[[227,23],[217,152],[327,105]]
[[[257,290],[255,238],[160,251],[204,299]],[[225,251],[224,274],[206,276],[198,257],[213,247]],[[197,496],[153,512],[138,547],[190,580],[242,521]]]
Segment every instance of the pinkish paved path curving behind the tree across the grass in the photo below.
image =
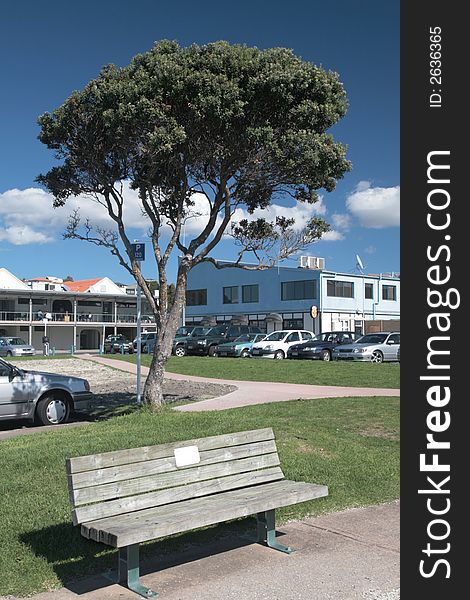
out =
[[[136,372],[136,365],[127,361],[105,358],[103,356],[83,355],[80,358],[93,360],[115,369],[130,373]],[[184,359],[182,359],[184,360]],[[215,360],[215,359],[214,359]],[[142,366],[142,374],[148,373],[148,367]],[[286,400],[300,400],[310,398],[339,398],[347,396],[399,396],[400,390],[391,388],[357,388],[334,385],[304,385],[295,383],[272,383],[269,381],[234,381],[228,379],[215,379],[197,377],[195,375],[180,375],[178,373],[165,373],[168,379],[181,381],[210,381],[223,385],[235,385],[237,389],[230,394],[194,402],[176,407],[176,410],[185,412],[199,412],[206,410],[226,410],[239,406],[253,404],[266,404],[267,402],[283,402]]]

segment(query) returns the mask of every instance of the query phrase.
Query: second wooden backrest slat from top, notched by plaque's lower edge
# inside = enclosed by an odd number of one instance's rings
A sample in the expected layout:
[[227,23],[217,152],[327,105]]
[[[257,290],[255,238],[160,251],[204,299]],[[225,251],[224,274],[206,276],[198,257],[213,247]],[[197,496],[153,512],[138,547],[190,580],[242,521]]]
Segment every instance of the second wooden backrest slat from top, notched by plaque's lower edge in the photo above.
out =
[[69,487],[73,490],[99,486],[110,482],[125,481],[136,479],[159,473],[169,473],[172,471],[181,471],[182,469],[191,469],[195,466],[204,466],[213,463],[223,463],[249,456],[259,456],[276,452],[276,443],[273,440],[244,444],[242,446],[233,446],[230,448],[217,448],[200,452],[200,462],[197,465],[178,468],[175,463],[175,457],[147,460],[131,465],[121,465],[119,467],[109,467],[106,469],[97,469],[86,471],[69,476]]

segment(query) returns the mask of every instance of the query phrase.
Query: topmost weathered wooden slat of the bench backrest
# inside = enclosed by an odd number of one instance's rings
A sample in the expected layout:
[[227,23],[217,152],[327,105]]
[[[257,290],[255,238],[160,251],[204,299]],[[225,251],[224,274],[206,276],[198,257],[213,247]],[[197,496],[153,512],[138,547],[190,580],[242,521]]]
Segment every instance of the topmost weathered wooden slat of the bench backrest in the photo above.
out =
[[104,452],[101,454],[90,454],[88,456],[68,458],[66,461],[66,470],[70,475],[82,471],[92,471],[96,469],[133,464],[136,462],[143,462],[158,458],[166,458],[173,456],[175,448],[181,448],[185,446],[198,446],[199,451],[206,451],[273,439],[274,433],[271,428],[240,431],[206,438],[172,442],[170,444],[143,446],[142,448],[129,448],[114,452]]

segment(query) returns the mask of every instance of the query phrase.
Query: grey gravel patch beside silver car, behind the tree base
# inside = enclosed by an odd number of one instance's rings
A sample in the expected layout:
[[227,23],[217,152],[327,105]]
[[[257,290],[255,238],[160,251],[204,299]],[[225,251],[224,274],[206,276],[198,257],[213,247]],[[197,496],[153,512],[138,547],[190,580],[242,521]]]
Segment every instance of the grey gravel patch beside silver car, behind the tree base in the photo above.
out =
[[[20,368],[29,371],[45,371],[60,373],[74,377],[83,377],[90,382],[94,394],[91,414],[101,415],[107,408],[119,405],[135,404],[136,377],[132,373],[119,371],[111,367],[79,358],[31,360],[16,363]],[[145,376],[142,375],[142,389]],[[221,385],[210,382],[175,381],[165,379],[163,395],[166,402],[197,402],[228,394],[236,389],[233,385]]]

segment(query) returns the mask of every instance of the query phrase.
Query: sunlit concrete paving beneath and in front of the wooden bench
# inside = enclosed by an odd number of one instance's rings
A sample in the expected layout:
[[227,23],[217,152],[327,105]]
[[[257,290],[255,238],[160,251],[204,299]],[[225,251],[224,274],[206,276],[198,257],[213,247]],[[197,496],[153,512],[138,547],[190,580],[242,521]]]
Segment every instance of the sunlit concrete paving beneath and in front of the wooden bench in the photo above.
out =
[[[253,543],[254,532],[188,544],[143,562],[142,582],[161,600],[398,600],[399,511],[394,502],[288,523],[278,537],[291,555]],[[95,577],[32,600],[138,598]]]

